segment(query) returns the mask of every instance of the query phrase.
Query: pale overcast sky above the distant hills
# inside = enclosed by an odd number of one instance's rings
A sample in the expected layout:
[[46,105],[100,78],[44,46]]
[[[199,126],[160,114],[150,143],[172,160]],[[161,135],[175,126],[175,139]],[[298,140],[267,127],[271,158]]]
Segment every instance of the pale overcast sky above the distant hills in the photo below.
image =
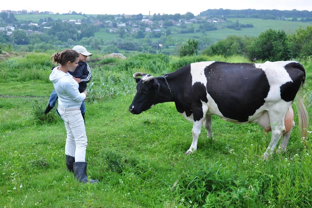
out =
[[[61,5],[61,6],[60,6]],[[45,1],[45,0],[1,0],[1,10],[39,10],[54,13],[75,11],[85,14],[185,14],[195,16],[207,9],[279,9],[279,10],[308,10],[312,11],[311,0],[93,0],[93,1]]]

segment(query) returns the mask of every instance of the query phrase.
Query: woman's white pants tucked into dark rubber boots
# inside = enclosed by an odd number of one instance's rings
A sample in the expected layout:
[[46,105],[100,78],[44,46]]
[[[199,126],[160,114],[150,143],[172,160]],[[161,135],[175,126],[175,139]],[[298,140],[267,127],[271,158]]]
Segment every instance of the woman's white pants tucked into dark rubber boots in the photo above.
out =
[[88,140],[80,107],[65,109],[58,106],[57,110],[64,120],[67,131],[65,154],[75,157],[75,162],[85,162]]

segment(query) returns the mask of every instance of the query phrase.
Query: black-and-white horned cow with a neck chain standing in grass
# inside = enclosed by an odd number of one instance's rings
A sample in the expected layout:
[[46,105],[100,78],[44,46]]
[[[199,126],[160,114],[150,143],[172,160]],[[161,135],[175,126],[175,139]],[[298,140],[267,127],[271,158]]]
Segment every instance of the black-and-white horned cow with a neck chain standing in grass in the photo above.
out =
[[[137,92],[129,106],[132,114],[140,114],[158,103],[174,102],[178,112],[193,122],[193,142],[185,154],[197,150],[202,124],[207,137],[212,136],[211,116],[217,115],[236,124],[257,122],[266,132],[272,131],[271,142],[263,154],[267,160],[282,135],[277,151],[286,150],[295,126],[292,103],[305,81],[305,69],[295,61],[203,61],[161,77],[138,72],[133,78]],[[306,138],[308,115],[302,96],[299,97],[299,122]]]

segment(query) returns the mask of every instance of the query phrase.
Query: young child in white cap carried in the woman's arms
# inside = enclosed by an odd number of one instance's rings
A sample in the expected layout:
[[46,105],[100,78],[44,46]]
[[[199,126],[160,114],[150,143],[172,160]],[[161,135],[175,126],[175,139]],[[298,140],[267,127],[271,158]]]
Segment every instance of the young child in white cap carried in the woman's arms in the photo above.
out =
[[[68,71],[68,73],[73,76],[73,79],[75,79],[76,82],[78,82],[79,84],[78,90],[80,93],[82,93],[87,88],[87,83],[90,82],[91,80],[91,70],[90,70],[89,65],[85,61],[88,56],[92,56],[92,53],[89,53],[87,49],[81,45],[76,45],[74,46],[73,49],[79,53],[79,62],[75,71],[73,72]],[[52,67],[51,70],[53,70],[53,68],[55,67]],[[54,90],[50,95],[49,104],[44,111],[45,114],[49,113],[50,110],[55,106],[57,98],[58,97],[57,97],[56,91]],[[82,104],[80,106],[80,111],[81,111],[83,120],[85,120],[85,101],[82,101]],[[59,114],[57,109],[56,109],[56,112],[57,114]]]

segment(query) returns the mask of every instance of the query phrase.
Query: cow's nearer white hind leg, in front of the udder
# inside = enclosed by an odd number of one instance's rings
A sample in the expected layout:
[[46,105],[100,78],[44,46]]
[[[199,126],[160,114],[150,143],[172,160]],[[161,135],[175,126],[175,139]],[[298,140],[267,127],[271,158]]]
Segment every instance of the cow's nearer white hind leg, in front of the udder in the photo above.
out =
[[284,134],[286,131],[284,118],[288,107],[286,108],[285,111],[283,111],[283,109],[285,109],[283,108],[283,104],[277,106],[280,106],[280,108],[272,109],[271,111],[268,112],[270,117],[272,136],[271,142],[263,155],[265,160],[269,159],[269,156],[274,151],[274,148],[276,147],[278,141],[280,140],[281,135]]

